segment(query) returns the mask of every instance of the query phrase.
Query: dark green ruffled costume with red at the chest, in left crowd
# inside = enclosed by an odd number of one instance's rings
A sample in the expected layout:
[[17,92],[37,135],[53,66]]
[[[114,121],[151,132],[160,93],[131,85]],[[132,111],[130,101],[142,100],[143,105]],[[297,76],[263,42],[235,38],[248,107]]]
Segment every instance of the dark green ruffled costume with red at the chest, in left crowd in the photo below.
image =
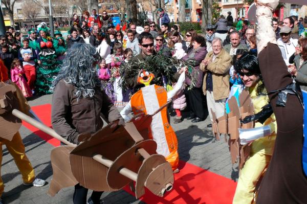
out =
[[52,48],[47,48],[47,46],[44,46],[41,48],[41,42],[48,43],[52,42],[52,40],[51,38],[46,39],[42,37],[39,37],[36,40],[36,52],[38,52],[41,61],[41,63],[38,64],[36,71],[36,91],[37,93],[44,95],[51,94],[49,89],[52,84],[53,77],[59,72],[59,67],[54,47],[52,46]]

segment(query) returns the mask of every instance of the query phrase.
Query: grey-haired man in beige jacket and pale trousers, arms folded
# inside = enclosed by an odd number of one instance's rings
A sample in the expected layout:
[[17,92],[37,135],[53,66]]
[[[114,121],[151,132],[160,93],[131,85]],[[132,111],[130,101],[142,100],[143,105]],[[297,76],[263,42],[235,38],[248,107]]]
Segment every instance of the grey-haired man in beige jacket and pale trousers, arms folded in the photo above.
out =
[[[200,69],[205,72],[203,93],[207,96],[211,121],[211,109],[217,118],[225,114],[225,102],[229,96],[229,69],[232,62],[231,56],[223,49],[221,38],[212,40],[212,49],[200,65]],[[211,126],[212,124],[207,125]]]

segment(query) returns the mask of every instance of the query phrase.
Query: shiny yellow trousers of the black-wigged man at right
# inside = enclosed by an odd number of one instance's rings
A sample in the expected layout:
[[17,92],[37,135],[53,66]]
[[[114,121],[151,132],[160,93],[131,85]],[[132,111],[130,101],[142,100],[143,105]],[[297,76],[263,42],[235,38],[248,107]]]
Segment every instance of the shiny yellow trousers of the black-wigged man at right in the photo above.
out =
[[255,187],[270,160],[271,155],[266,155],[264,152],[251,153],[240,170],[233,204],[253,203]]

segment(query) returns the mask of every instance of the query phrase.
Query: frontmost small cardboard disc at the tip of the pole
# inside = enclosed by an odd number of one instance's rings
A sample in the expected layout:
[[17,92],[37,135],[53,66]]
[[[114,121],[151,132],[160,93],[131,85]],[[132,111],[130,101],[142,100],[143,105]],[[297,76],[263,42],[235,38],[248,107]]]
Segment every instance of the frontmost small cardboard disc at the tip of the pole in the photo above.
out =
[[171,169],[171,165],[167,162],[159,165],[148,175],[148,178],[145,182],[145,186],[153,194],[162,197],[164,193],[172,189],[173,183],[173,172]]

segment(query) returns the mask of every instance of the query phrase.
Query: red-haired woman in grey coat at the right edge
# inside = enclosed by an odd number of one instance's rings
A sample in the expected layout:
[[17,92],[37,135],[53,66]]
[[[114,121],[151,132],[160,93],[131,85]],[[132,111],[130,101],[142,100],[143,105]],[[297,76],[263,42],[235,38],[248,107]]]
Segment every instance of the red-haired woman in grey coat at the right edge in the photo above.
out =
[[298,41],[300,46],[300,54],[294,58],[295,67],[290,67],[291,74],[295,76],[295,81],[302,90],[307,91],[307,38]]

